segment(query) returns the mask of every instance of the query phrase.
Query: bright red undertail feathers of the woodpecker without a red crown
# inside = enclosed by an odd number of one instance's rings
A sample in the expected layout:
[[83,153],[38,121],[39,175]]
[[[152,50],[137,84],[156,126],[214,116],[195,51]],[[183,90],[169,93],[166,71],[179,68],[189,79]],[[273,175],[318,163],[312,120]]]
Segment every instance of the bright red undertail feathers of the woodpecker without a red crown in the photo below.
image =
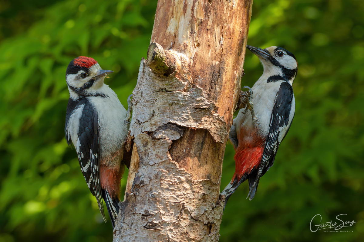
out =
[[232,182],[235,178],[240,180],[244,174],[249,174],[253,168],[258,167],[262,159],[263,151],[264,147],[251,147],[237,150],[234,156],[235,173]]

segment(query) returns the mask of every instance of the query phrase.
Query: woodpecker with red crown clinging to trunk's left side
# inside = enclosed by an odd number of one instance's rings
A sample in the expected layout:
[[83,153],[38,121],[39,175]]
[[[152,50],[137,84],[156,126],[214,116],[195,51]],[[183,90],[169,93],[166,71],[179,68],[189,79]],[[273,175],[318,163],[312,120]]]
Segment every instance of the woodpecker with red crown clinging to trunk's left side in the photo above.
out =
[[130,116],[115,92],[104,84],[104,78],[112,72],[102,70],[98,62],[86,56],[70,62],[66,71],[70,99],[64,131],[67,143],[76,148],[81,171],[104,221],[102,199],[114,228]]

